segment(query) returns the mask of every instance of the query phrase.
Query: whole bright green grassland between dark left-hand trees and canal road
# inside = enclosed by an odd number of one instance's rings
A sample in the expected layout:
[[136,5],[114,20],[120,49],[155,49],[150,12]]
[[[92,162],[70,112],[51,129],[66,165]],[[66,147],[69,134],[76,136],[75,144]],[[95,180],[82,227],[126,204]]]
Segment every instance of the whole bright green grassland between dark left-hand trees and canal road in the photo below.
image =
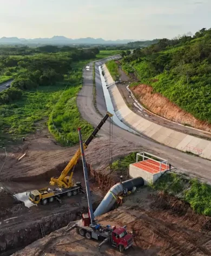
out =
[[[116,54],[116,51],[101,51],[97,59]],[[0,106],[0,146],[9,141],[18,141],[22,136],[35,132],[37,122],[42,120],[55,139],[62,145],[72,146],[78,142],[77,127],[82,128],[85,139],[93,127],[83,120],[76,105],[78,91],[82,88],[82,68],[93,60],[74,63],[73,71],[64,76],[64,81],[55,86],[39,87],[24,91],[21,100]],[[64,141],[54,128],[66,138]],[[68,142],[67,142],[68,140]]]

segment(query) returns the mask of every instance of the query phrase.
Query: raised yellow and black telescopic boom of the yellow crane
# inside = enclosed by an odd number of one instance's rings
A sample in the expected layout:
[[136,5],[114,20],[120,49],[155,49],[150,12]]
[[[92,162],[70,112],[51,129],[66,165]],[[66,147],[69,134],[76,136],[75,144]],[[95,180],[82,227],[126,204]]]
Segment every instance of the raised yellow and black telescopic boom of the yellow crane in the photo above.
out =
[[[83,143],[83,149],[84,150],[89,146],[90,142],[94,139],[94,137],[96,136],[98,131],[101,129],[103,124],[108,119],[108,117],[111,117],[111,116],[113,116],[113,114],[107,112],[106,115],[101,120],[101,122],[98,123],[98,126],[89,135],[88,139]],[[61,175],[58,178],[56,178],[56,177],[51,178],[50,185],[52,185],[52,186],[57,185],[58,187],[61,187],[61,188],[70,188],[70,187],[72,187],[74,185],[74,182],[72,181],[72,175],[74,173],[74,169],[72,169],[72,168],[75,167],[75,165],[76,165],[78,159],[80,158],[80,156],[81,156],[81,149],[79,148],[76,151],[75,155],[72,156],[68,165],[62,171]],[[72,172],[71,172],[70,176],[67,176],[71,169],[72,169]]]

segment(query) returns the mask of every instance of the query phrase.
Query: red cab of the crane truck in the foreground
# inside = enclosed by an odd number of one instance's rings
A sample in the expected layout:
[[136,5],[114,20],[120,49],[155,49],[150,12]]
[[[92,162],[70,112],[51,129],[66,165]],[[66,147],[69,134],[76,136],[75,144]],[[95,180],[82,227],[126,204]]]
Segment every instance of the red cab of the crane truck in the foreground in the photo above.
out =
[[133,236],[124,227],[115,228],[111,235],[111,243],[122,252],[133,245]]

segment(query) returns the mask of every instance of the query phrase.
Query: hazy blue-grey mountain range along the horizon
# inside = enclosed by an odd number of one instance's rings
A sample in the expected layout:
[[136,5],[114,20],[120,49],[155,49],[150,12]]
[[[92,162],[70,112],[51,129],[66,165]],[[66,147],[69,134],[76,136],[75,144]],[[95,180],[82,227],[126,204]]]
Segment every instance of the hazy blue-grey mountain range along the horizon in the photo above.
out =
[[[141,40],[142,41],[142,40]],[[143,40],[144,41],[144,40]],[[67,44],[127,44],[129,42],[135,42],[135,40],[104,40],[102,38],[78,38],[71,39],[65,36],[54,36],[51,38],[35,38],[25,39],[18,37],[2,37],[0,38],[0,44],[52,44],[52,45],[67,45]]]

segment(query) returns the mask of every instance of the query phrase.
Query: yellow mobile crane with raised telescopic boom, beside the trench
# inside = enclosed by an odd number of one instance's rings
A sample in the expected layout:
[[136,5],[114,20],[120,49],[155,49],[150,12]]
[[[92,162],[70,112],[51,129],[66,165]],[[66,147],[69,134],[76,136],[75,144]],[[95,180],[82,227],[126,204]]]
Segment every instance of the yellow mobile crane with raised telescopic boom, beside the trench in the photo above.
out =
[[[112,116],[113,114],[107,112],[107,114],[103,117],[103,119],[98,124],[98,126],[90,134],[88,139],[83,143],[84,149],[86,149],[89,146],[89,143],[94,139],[98,131],[101,129],[103,124],[108,119],[108,117],[112,117]],[[76,195],[78,193],[81,193],[83,191],[81,182],[74,183],[74,181],[72,180],[72,175],[74,174],[74,169],[78,159],[80,159],[80,156],[81,156],[81,149],[78,148],[75,155],[72,156],[68,165],[62,171],[61,175],[59,177],[51,178],[50,185],[52,186],[57,185],[58,187],[54,189],[46,187],[46,188],[36,189],[34,191],[31,191],[29,194],[29,200],[34,204],[42,203],[43,205],[46,205],[48,202],[53,202],[54,199],[56,198],[61,203],[61,199],[60,199],[61,195],[71,196],[71,195]],[[71,169],[72,169],[72,172],[70,176],[67,176]]]

